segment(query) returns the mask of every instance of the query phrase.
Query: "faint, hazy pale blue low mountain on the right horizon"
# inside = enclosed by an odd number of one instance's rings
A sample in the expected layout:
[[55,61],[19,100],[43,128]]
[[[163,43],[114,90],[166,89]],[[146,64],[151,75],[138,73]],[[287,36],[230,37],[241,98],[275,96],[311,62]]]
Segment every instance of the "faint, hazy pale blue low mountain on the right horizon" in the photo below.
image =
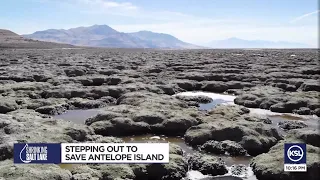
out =
[[296,42],[244,40],[235,37],[212,41],[207,46],[211,48],[311,48],[309,45]]

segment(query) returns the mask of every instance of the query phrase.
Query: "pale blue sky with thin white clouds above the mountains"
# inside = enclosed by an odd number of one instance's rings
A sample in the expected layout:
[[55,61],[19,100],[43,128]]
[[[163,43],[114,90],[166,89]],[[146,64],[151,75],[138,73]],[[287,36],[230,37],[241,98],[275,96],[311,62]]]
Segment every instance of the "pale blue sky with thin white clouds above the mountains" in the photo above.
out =
[[31,34],[106,24],[203,45],[237,37],[317,46],[317,0],[0,0],[0,29]]

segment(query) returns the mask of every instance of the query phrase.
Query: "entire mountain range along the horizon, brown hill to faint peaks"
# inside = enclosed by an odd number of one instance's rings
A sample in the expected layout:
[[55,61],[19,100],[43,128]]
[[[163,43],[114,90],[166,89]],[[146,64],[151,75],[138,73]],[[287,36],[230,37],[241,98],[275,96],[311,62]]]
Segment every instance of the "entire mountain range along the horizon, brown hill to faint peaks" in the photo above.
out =
[[[295,42],[245,40],[236,37],[211,41],[203,46],[184,42],[170,34],[151,31],[119,32],[108,25],[93,25],[71,29],[48,29],[19,36],[1,30],[0,43],[8,46],[89,46],[108,48],[157,48],[157,49],[234,49],[234,48],[314,48]],[[9,33],[10,32],[10,33]],[[21,44],[22,43],[22,44]],[[70,44],[70,45],[69,45]]]

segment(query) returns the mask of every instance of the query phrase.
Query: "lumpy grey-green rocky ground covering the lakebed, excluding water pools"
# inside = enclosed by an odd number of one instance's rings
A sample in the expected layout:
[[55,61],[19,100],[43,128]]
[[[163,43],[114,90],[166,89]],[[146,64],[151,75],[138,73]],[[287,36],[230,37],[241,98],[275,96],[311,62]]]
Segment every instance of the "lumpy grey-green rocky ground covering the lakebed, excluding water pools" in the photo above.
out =
[[[212,154],[187,159],[175,145],[170,163],[162,165],[63,169],[12,163],[15,142],[121,142],[122,136],[147,133],[184,136],[199,152],[256,156],[251,165],[258,179],[317,179],[318,131],[283,122],[280,127],[288,133],[283,136],[268,119],[252,117],[247,109],[319,115],[317,53],[0,49],[0,179],[180,180],[190,169],[227,172],[223,160]],[[210,99],[172,96],[194,90],[235,94],[241,106],[203,112],[197,106]],[[52,119],[70,109],[91,108],[101,112],[85,124]],[[308,144],[308,172],[302,175],[284,173],[281,163],[282,144],[296,141]]]

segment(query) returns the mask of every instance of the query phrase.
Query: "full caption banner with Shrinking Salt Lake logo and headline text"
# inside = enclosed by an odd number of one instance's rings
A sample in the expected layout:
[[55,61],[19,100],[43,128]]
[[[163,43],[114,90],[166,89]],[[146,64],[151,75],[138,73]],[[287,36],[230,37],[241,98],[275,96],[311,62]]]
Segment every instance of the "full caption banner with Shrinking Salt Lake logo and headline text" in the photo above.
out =
[[169,163],[169,143],[16,143],[14,163]]

